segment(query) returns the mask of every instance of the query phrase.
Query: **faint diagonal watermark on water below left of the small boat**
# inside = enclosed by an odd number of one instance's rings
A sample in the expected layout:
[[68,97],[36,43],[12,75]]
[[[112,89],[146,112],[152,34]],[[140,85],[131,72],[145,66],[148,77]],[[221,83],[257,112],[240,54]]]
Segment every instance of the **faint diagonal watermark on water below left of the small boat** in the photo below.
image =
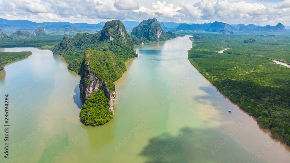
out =
[[[237,133],[240,128],[242,128],[244,126],[245,123],[243,123],[242,121],[238,122],[238,125],[236,127],[234,127],[233,129],[229,130],[229,132],[227,133],[229,137],[233,137],[233,135],[235,133]],[[224,144],[226,144],[227,141],[229,141],[229,137],[225,136],[224,139],[219,140],[218,144],[215,144],[215,147],[213,149],[211,149],[211,154],[214,155],[215,153],[217,153],[220,148],[222,148],[224,146]]]

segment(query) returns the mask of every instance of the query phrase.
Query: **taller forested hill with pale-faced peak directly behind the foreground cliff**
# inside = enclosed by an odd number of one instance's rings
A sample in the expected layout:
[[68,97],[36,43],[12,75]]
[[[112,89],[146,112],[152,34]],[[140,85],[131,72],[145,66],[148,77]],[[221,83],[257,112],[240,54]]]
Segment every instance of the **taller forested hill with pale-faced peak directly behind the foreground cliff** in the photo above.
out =
[[[109,49],[115,57],[126,62],[137,57],[133,51],[134,45],[131,37],[121,21],[112,20],[106,22],[101,33],[77,33],[73,38],[65,36],[64,39],[53,49],[54,54],[65,56],[83,56],[87,48],[101,51],[104,48]],[[81,60],[68,62],[68,68],[79,74]],[[79,66],[77,67],[77,64]]]

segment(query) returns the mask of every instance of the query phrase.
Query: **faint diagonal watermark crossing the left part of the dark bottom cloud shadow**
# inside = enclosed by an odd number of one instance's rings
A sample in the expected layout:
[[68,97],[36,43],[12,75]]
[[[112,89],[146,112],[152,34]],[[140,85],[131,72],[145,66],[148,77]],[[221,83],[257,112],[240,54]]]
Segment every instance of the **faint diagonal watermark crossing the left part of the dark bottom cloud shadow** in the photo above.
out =
[[169,151],[170,147],[172,147],[177,141],[180,140],[180,138],[184,135],[184,132],[182,131],[179,131],[177,136],[174,137],[173,139],[170,139],[168,141],[168,145],[166,144],[166,146],[164,146],[164,148],[160,149],[160,152],[159,153],[156,153],[155,154],[155,157],[154,158],[151,158],[151,162],[154,163],[154,162],[158,162],[158,160],[160,160],[160,158],[165,155],[165,153],[167,151]]

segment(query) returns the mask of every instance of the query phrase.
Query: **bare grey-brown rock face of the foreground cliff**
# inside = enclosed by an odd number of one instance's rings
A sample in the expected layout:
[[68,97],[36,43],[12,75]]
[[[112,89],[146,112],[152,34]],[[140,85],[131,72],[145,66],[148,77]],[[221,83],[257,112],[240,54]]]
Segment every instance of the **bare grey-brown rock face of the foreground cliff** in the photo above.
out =
[[[89,57],[90,53],[86,53],[85,55],[86,55],[86,57]],[[79,89],[80,89],[81,96],[85,100],[87,100],[92,92],[98,91],[99,89],[103,89],[105,96],[110,101],[109,110],[114,115],[113,102],[115,101],[115,97],[116,97],[115,89],[113,92],[111,92],[109,90],[109,88],[107,87],[106,82],[102,79],[99,79],[93,72],[90,71],[90,69],[88,68],[89,64],[90,63],[87,62],[86,60],[84,61],[83,75],[82,75],[80,83],[79,83]],[[90,81],[89,84],[87,84],[86,81]]]

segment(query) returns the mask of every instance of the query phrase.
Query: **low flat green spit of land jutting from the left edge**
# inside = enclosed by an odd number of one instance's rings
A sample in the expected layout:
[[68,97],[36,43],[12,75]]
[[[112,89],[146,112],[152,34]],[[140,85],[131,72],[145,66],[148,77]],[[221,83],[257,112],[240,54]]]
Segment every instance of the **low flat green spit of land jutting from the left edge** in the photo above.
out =
[[11,63],[13,61],[27,58],[29,55],[31,55],[31,51],[21,51],[21,52],[0,52],[0,58],[2,59],[2,62],[6,65],[8,63]]

